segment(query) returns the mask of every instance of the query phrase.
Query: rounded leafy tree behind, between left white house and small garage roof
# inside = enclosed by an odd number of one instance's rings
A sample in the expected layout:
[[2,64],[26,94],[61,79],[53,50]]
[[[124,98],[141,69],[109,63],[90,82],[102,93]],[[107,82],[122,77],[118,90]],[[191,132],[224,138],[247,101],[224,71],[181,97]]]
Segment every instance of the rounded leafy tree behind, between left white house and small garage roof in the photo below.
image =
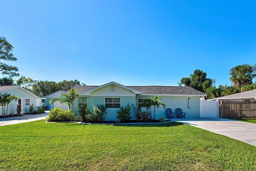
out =
[[45,95],[58,91],[59,89],[57,86],[58,84],[53,81],[40,81],[32,86],[31,92],[37,95],[38,97],[43,97]]

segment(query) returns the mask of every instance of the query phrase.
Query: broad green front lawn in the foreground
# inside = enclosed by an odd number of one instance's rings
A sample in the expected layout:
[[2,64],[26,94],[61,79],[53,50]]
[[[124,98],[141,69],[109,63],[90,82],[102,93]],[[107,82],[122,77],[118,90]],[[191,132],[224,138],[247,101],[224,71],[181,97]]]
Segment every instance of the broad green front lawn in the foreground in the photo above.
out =
[[172,122],[0,127],[0,170],[256,170],[256,147]]

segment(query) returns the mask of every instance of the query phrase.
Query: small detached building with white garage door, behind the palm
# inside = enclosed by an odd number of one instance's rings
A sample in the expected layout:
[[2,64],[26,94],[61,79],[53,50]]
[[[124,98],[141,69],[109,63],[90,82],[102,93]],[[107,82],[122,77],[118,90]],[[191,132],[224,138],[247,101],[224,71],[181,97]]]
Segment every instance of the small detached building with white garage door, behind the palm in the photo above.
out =
[[56,97],[60,97],[60,95],[62,93],[66,93],[66,91],[58,90],[58,91],[56,91],[54,93],[50,93],[50,94],[44,96],[44,98],[46,98],[45,105],[49,106],[49,110],[50,109],[54,109],[56,107],[60,107],[61,109],[65,109],[65,110],[68,109],[68,105],[66,103],[59,103],[58,101],[54,101],[54,103],[50,104],[50,102],[49,102],[50,99],[53,99],[53,98],[56,98]]

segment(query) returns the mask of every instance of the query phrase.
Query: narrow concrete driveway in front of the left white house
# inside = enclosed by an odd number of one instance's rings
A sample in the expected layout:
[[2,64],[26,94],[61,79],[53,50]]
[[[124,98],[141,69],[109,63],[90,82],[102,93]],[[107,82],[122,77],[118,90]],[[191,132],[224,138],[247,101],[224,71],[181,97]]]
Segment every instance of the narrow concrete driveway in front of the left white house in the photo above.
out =
[[49,111],[45,111],[45,113],[40,114],[24,114],[23,116],[0,118],[0,126],[37,121],[45,119],[48,116],[48,114]]

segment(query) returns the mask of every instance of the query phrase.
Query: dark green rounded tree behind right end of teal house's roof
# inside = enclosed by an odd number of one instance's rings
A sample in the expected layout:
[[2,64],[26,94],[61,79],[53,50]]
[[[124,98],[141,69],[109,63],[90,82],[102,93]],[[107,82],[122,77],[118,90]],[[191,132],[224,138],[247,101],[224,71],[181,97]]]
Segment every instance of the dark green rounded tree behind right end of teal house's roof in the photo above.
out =
[[206,92],[207,88],[212,87],[212,79],[206,78],[206,76],[206,72],[196,69],[193,74],[190,74],[189,78],[182,78],[180,83],[185,86],[190,86],[198,91]]

